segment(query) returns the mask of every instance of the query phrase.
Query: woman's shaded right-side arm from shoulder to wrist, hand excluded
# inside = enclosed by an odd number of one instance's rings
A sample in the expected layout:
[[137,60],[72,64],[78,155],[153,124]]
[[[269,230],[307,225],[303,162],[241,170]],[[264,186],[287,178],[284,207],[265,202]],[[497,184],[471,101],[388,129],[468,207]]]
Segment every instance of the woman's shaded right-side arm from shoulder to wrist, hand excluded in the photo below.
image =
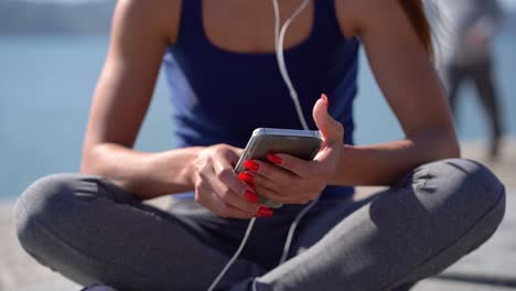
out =
[[343,146],[331,184],[386,185],[433,160],[460,155],[441,82],[398,1],[342,1],[347,36],[358,35],[406,138]]

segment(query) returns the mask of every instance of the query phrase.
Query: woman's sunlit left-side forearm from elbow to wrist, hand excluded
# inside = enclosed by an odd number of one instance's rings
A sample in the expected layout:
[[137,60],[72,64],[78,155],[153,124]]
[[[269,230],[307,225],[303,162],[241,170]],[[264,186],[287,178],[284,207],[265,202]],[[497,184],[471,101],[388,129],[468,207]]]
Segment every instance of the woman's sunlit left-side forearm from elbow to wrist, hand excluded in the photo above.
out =
[[139,152],[116,143],[85,152],[80,171],[105,176],[118,186],[149,200],[194,188],[192,162],[202,148]]

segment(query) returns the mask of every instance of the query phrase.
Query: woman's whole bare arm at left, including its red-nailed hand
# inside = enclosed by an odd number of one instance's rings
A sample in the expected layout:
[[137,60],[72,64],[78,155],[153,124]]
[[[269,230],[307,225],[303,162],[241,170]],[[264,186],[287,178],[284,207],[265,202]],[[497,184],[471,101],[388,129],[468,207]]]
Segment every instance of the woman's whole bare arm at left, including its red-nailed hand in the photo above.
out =
[[240,149],[227,144],[155,153],[131,149],[149,107],[163,52],[178,34],[181,10],[176,2],[118,2],[80,170],[105,176],[142,200],[195,191],[195,200],[221,216],[270,215],[270,211],[258,211],[256,193],[233,171],[232,163],[238,160]]

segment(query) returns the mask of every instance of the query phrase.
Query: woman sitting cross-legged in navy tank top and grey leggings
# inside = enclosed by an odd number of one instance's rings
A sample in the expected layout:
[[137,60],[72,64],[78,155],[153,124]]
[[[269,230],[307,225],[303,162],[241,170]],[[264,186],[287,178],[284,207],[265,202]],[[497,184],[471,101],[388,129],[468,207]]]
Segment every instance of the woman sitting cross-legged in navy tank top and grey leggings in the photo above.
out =
[[[280,1],[281,22],[300,3]],[[256,216],[217,288],[393,290],[484,242],[503,217],[504,188],[484,166],[456,159],[419,1],[311,1],[287,33],[286,61],[304,111],[315,104],[309,126],[325,146],[316,161],[277,153],[247,162],[245,181],[234,173],[254,128],[300,127],[276,64],[272,11],[269,1],[119,1],[82,174],[44,177],[20,197],[23,247],[85,285],[206,290]],[[402,140],[353,146],[359,43]],[[179,146],[138,152],[163,54]],[[353,185],[391,187],[354,201]],[[170,212],[141,204],[186,192]],[[321,192],[277,266],[290,224]],[[286,206],[264,207],[258,194]]]

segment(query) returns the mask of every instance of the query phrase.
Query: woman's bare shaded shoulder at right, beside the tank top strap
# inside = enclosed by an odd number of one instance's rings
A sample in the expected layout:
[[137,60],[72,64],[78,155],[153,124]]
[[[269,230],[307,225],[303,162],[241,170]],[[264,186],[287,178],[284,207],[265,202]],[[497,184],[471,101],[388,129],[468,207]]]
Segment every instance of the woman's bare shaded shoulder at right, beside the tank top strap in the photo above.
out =
[[338,24],[346,36],[361,35],[377,23],[388,23],[400,9],[397,0],[335,0]]

